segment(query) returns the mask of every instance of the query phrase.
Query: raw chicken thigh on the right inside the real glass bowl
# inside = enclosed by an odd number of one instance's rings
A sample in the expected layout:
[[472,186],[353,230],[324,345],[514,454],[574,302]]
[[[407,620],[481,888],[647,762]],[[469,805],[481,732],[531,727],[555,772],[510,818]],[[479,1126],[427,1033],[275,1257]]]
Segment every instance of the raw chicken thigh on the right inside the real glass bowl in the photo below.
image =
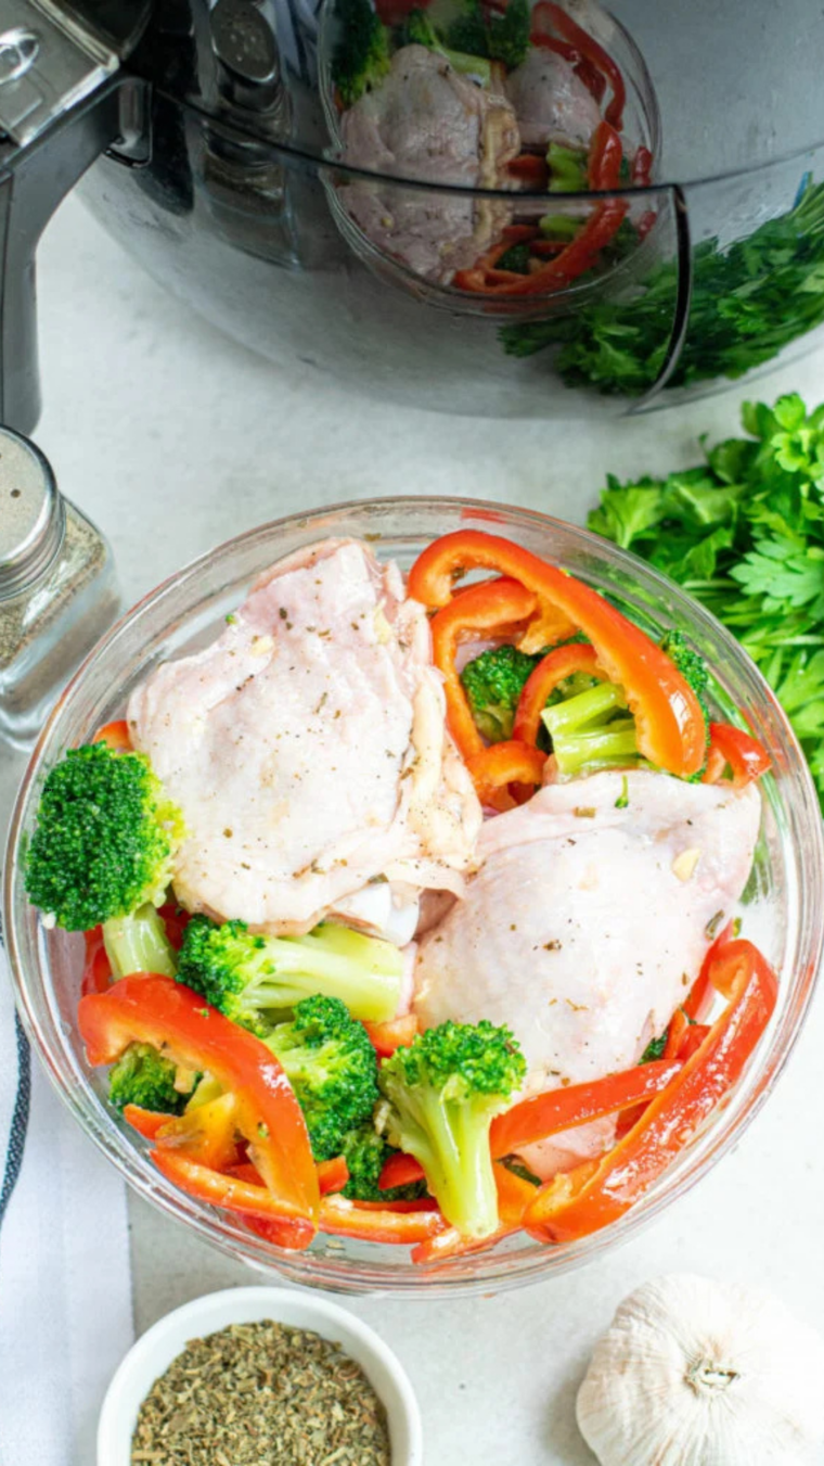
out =
[[[628,1069],[739,899],[760,809],[755,786],[638,770],[547,784],[489,819],[464,900],[420,941],[423,1026],[508,1023],[528,1064],[524,1092]],[[569,1143],[591,1148],[594,1130]]]

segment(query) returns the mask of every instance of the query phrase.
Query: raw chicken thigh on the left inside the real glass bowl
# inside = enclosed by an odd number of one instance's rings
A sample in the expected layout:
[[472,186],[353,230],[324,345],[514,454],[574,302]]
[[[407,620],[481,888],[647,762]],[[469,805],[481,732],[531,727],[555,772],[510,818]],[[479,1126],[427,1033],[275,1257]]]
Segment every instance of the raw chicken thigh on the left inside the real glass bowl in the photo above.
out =
[[127,717],[186,819],[174,890],[189,910],[266,932],[334,915],[402,943],[422,888],[461,893],[480,806],[423,607],[366,545],[281,560]]

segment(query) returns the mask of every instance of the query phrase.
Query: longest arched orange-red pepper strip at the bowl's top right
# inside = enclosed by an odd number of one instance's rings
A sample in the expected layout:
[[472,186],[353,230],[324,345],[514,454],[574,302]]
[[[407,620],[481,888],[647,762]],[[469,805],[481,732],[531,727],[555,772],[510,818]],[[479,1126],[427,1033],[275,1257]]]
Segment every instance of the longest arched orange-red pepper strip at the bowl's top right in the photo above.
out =
[[[458,529],[435,539],[417,557],[410,570],[408,594],[423,605],[438,608],[441,616],[442,607],[455,604],[452,594],[460,576],[477,567],[521,581],[540,598],[542,611],[546,605],[562,613],[584,633],[606,676],[623,688],[644,758],[681,778],[704,767],[704,714],[692,688],[669,657],[597,591],[539,560],[530,550],[499,535]],[[441,661],[438,666],[442,667]],[[460,692],[462,695],[462,689]],[[454,704],[458,705],[457,696]],[[468,714],[465,701],[464,708]]]

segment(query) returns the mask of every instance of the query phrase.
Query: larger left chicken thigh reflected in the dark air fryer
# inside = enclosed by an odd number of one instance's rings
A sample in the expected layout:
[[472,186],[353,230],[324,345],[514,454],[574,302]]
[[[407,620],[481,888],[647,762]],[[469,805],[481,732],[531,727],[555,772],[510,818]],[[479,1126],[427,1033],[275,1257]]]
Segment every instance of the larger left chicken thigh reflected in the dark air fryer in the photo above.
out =
[[[518,154],[506,98],[452,70],[424,45],[404,45],[386,81],[341,119],[344,158],[373,173],[461,188],[499,188]],[[416,274],[448,281],[476,262],[509,211],[501,202],[424,194],[388,182],[341,191],[364,235]]]

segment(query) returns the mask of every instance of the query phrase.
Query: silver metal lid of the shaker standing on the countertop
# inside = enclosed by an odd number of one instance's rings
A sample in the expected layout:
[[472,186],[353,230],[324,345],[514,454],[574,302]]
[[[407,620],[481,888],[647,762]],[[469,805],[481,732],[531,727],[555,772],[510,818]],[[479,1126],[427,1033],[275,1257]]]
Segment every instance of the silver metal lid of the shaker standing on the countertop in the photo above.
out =
[[66,507],[48,459],[0,427],[0,601],[19,595],[50,567],[66,531]]

